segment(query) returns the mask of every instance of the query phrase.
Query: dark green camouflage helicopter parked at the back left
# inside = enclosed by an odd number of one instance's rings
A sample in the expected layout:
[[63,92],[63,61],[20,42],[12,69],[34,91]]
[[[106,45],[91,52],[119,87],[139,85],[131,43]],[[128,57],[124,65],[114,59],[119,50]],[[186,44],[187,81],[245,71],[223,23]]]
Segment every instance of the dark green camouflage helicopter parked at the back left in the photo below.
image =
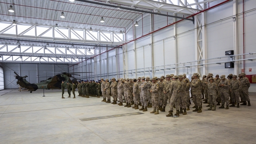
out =
[[[38,88],[47,88],[47,89],[61,89],[61,83],[64,81],[65,88],[67,87],[66,82],[69,82],[72,84],[74,82],[77,86],[78,81],[76,78],[72,77],[72,75],[78,75],[74,73],[60,73],[55,75],[54,77],[50,77],[45,81],[41,81],[41,83],[29,83],[26,80],[27,75],[24,77],[19,76],[16,72],[14,72],[16,75],[14,76],[15,79],[17,79],[17,84],[19,84],[22,88],[26,88],[27,90],[32,93],[32,91],[36,91]],[[82,73],[91,73],[91,72],[82,72]],[[79,75],[80,76],[80,75]],[[70,77],[74,78],[73,80],[70,79]]]

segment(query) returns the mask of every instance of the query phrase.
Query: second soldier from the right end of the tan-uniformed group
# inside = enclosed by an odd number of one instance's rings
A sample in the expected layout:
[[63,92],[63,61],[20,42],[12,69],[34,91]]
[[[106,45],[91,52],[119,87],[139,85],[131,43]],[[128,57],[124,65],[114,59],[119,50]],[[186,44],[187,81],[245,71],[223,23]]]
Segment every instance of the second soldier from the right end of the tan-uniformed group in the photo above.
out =
[[231,81],[230,83],[230,87],[231,87],[231,103],[232,105],[230,107],[234,107],[235,106],[235,101],[237,100],[237,108],[239,108],[239,91],[242,89],[242,85],[241,82],[239,80],[237,80],[237,75],[233,75],[233,81]]

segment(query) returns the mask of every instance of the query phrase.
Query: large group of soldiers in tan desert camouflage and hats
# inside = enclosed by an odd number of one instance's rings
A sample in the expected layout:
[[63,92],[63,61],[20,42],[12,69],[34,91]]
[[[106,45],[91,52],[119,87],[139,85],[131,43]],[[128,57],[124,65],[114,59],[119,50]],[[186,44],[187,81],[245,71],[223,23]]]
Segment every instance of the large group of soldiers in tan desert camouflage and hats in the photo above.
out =
[[[218,75],[217,75],[218,76]],[[123,106],[123,98],[126,103],[125,107],[130,108],[134,104],[134,109],[139,109],[138,106],[142,106],[139,110],[147,111],[147,108],[153,107],[153,111],[150,113],[159,114],[160,111],[165,111],[167,100],[170,103],[169,114],[167,117],[173,117],[173,109],[176,108],[176,116],[180,113],[186,115],[186,111],[190,110],[190,93],[193,98],[195,108],[193,111],[198,113],[202,112],[202,90],[206,96],[205,102],[209,104],[208,110],[216,110],[217,96],[221,100],[221,107],[229,109],[229,93],[231,93],[231,106],[237,104],[239,108],[239,97],[241,96],[243,104],[250,106],[250,99],[248,97],[248,88],[250,83],[244,73],[240,74],[239,80],[236,75],[229,75],[228,79],[225,75],[221,75],[219,79],[213,78],[212,73],[208,76],[203,76],[200,80],[200,76],[197,73],[193,74],[192,81],[190,82],[186,78],[186,74],[183,75],[166,75],[160,78],[153,77],[139,77],[136,79],[101,79],[101,92],[103,95],[102,102],[111,103],[111,95],[113,97],[112,104],[117,104],[117,98],[120,100],[119,106]],[[209,100],[209,102],[208,102]]]

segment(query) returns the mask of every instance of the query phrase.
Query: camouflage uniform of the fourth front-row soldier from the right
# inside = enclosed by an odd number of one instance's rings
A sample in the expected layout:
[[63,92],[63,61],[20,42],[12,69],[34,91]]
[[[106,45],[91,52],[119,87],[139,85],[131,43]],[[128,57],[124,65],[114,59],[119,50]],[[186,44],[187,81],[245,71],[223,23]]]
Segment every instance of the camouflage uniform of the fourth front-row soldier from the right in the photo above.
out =
[[213,106],[217,106],[217,90],[218,90],[218,85],[216,83],[208,83],[208,100],[209,104]]

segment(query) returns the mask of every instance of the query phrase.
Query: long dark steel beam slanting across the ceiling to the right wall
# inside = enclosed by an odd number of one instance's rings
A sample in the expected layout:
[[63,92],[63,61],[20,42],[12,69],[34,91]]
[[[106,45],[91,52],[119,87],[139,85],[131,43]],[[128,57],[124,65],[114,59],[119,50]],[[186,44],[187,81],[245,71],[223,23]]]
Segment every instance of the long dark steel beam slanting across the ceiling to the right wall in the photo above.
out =
[[90,3],[90,4],[97,4],[97,5],[101,5],[101,6],[109,6],[109,7],[113,7],[113,8],[122,8],[124,10],[131,10],[131,11],[142,12],[142,13],[151,13],[151,14],[155,14],[155,15],[162,15],[162,16],[166,16],[166,17],[173,17],[173,18],[178,18],[178,19],[185,19],[185,20],[189,20],[189,21],[194,21],[194,19],[188,19],[188,18],[185,18],[185,17],[178,17],[178,16],[174,16],[174,15],[167,15],[167,14],[162,14],[162,13],[149,12],[149,11],[145,11],[145,10],[126,8],[126,7],[122,7],[122,6],[104,4],[104,3],[101,3],[101,2],[95,2],[95,1],[89,1],[89,0],[76,0],[76,1],[87,2],[87,3]]

